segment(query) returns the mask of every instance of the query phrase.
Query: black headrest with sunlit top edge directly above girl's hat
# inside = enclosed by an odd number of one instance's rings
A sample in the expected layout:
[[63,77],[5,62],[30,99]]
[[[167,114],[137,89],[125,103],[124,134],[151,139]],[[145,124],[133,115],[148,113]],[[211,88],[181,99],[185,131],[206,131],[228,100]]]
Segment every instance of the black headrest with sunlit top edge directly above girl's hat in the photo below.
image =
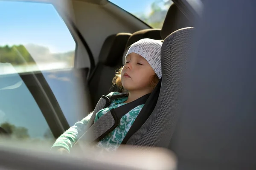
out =
[[154,40],[162,40],[161,38],[161,29],[143,29],[137,32],[134,32],[129,38],[125,48],[132,45],[134,42],[137,42],[143,38],[151,38]]

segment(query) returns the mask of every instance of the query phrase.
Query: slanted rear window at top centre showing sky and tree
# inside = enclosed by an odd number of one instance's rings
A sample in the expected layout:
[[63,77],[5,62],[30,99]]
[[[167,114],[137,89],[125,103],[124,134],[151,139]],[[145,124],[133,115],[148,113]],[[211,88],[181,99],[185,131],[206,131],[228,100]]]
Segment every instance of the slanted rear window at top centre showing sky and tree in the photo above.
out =
[[109,0],[153,28],[162,28],[172,0]]

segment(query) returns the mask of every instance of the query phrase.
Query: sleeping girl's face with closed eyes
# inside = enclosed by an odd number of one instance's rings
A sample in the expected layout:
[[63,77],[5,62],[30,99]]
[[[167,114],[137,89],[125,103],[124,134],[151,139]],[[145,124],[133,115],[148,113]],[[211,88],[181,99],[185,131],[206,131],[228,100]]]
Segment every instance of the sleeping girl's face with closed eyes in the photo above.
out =
[[155,72],[145,58],[129,54],[121,71],[122,86],[128,91],[152,91],[150,82]]

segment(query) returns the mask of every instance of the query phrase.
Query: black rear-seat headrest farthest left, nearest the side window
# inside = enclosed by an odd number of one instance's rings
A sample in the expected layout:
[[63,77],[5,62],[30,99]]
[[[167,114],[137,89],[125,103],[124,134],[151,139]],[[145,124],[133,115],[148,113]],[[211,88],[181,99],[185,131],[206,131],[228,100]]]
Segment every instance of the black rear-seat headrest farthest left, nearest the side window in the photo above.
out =
[[125,51],[125,45],[130,36],[130,33],[118,33],[108,36],[99,53],[99,62],[103,62],[107,66],[115,66]]

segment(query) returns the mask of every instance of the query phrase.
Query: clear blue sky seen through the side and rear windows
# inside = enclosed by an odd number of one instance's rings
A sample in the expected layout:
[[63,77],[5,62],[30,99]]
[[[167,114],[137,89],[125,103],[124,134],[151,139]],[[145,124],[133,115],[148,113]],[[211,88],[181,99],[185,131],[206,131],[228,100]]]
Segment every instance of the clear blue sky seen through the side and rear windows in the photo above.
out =
[[[111,0],[131,13],[148,13],[154,0]],[[0,1],[0,45],[37,44],[51,52],[75,49],[63,20],[50,4]]]

